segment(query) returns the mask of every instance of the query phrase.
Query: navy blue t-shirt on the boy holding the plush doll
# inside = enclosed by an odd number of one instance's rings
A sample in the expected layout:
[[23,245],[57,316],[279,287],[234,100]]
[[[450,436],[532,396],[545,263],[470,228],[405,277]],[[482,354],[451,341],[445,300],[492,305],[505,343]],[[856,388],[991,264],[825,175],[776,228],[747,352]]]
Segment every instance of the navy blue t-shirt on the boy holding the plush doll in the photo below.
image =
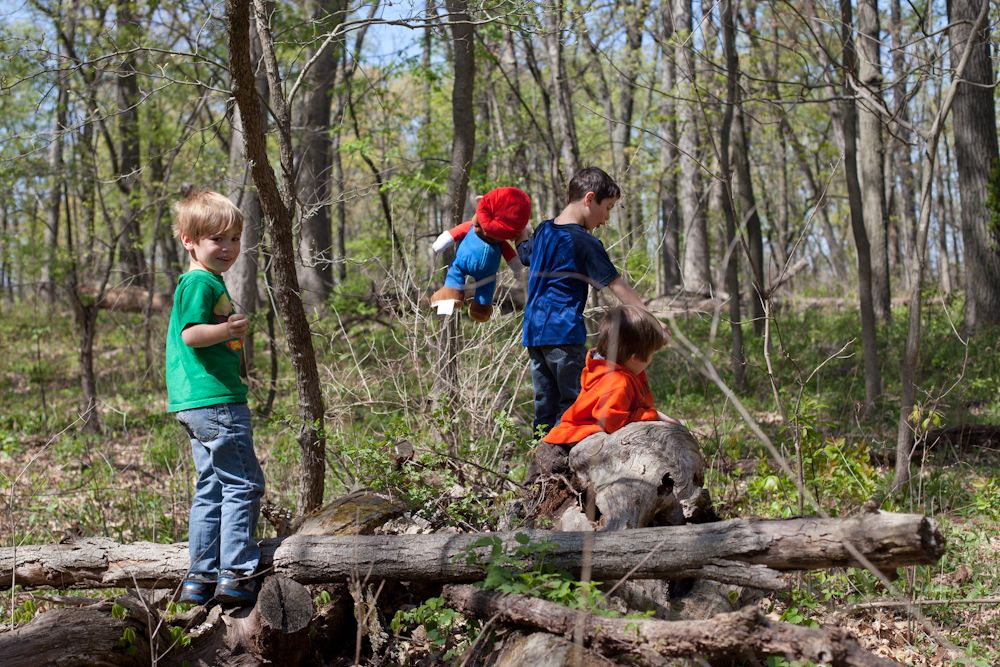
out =
[[528,301],[524,306],[525,347],[580,345],[587,337],[583,307],[590,285],[607,287],[618,277],[608,252],[581,225],[546,220],[529,241],[517,248],[528,267]]

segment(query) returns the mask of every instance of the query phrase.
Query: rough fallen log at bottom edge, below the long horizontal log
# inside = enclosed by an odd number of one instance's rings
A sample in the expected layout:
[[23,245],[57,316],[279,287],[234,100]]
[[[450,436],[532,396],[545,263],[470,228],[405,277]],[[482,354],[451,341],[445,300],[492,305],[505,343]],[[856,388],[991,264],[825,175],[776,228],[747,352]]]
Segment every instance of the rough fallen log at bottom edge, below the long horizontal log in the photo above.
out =
[[467,616],[544,629],[602,653],[627,653],[644,664],[695,657],[710,663],[761,656],[811,660],[834,667],[888,667],[898,663],[862,649],[842,628],[813,629],[772,621],[756,608],[700,621],[659,621],[593,616],[523,595],[445,586],[445,602]]

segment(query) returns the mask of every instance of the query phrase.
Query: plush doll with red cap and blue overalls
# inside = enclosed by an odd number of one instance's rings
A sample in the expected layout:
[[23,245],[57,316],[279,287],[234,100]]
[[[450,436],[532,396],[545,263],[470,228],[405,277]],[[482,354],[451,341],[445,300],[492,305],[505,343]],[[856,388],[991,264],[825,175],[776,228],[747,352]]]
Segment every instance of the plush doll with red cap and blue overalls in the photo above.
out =
[[[511,271],[519,276],[521,261],[508,243],[517,238],[531,217],[531,198],[518,188],[490,190],[476,206],[476,217],[453,227],[434,241],[431,248],[441,252],[458,243],[455,259],[445,276],[444,287],[431,295],[431,305],[439,315],[448,315],[455,305],[461,305],[470,290],[469,317],[485,322],[493,314],[493,292],[500,257],[507,260]],[[475,281],[466,286],[465,278]]]

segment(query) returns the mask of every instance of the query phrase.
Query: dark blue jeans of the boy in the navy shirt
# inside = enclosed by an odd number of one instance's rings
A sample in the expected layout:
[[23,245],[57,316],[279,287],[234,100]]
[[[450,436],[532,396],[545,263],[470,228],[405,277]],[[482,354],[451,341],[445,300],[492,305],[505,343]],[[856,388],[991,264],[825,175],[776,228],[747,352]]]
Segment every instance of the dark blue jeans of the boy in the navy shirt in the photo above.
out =
[[585,345],[529,347],[531,384],[535,387],[534,433],[545,433],[559,423],[580,393],[580,373],[587,361]]

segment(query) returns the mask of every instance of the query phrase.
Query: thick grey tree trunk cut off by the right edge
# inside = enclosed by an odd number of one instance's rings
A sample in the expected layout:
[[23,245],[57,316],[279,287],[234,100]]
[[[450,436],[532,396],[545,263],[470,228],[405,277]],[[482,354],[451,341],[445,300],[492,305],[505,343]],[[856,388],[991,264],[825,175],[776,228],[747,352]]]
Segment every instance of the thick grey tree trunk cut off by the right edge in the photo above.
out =
[[970,332],[1000,323],[1000,151],[993,60],[989,24],[971,29],[984,5],[988,0],[952,0],[948,5],[952,62],[966,42],[973,44],[952,122],[965,245],[965,326]]

